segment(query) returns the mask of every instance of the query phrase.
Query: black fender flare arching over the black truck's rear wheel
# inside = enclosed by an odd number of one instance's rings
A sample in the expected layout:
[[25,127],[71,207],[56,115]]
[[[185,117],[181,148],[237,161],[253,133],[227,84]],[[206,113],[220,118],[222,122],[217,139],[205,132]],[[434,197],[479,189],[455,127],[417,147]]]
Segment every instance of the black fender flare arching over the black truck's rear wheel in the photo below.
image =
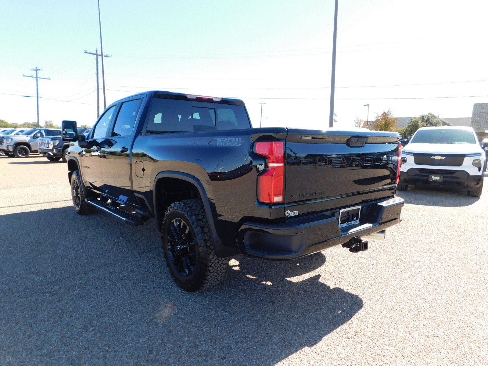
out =
[[[207,215],[207,222],[208,226],[210,227],[210,233],[212,235],[212,240],[216,242],[221,242],[217,235],[217,231],[215,229],[215,223],[212,215],[212,209],[210,208],[210,201],[208,199],[207,193],[205,191],[205,188],[203,187],[202,182],[200,180],[188,173],[183,173],[183,172],[178,172],[178,171],[173,171],[173,170],[167,170],[167,171],[162,171],[156,175],[156,178],[154,178],[153,181],[153,186],[152,186],[152,192],[153,192],[153,212],[154,212],[154,217],[156,220],[159,221],[159,218],[161,216],[161,213],[158,210],[158,205],[157,205],[157,194],[156,194],[156,186],[157,183],[160,179],[163,178],[176,178],[176,179],[181,179],[183,181],[192,183],[197,187],[198,192],[200,194],[200,197],[202,198],[203,201],[203,207],[205,208],[205,213]],[[163,213],[164,215],[164,213]]]

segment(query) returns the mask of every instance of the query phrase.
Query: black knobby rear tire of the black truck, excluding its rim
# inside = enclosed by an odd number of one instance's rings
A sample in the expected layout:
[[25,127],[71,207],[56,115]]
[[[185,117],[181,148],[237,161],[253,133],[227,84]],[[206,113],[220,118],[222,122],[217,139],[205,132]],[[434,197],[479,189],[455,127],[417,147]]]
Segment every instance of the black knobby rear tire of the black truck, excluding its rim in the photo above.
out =
[[[182,219],[185,222],[196,242],[196,264],[188,276],[181,275],[169,257],[167,230],[170,230],[169,225],[174,219]],[[181,288],[189,292],[199,291],[217,285],[224,278],[228,260],[215,255],[202,201],[183,200],[172,203],[164,214],[161,234],[164,259],[169,273]]]

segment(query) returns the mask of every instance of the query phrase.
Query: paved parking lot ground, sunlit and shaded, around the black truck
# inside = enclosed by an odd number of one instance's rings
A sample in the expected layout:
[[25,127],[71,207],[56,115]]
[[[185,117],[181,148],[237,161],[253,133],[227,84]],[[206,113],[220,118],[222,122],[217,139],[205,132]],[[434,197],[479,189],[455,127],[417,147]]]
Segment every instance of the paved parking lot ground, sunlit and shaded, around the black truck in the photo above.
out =
[[362,253],[235,257],[186,293],[154,220],[79,216],[65,163],[0,157],[1,365],[486,365],[488,182],[400,192]]

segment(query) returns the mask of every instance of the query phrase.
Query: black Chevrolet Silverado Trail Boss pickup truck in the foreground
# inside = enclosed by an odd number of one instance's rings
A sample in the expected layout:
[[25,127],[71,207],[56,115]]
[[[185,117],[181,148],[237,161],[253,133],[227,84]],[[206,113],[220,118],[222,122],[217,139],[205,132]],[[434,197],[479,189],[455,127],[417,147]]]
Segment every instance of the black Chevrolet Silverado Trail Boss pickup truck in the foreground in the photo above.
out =
[[73,205],[156,218],[175,282],[218,283],[242,253],[356,252],[401,221],[394,132],[252,128],[244,102],[148,91],[108,106],[87,136],[63,121]]

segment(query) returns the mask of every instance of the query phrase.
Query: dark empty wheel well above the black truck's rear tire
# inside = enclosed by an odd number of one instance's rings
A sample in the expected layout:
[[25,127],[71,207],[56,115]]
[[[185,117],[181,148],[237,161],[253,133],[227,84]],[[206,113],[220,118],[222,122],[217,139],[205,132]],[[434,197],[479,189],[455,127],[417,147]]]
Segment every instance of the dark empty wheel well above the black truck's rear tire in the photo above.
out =
[[171,203],[182,200],[201,200],[200,192],[195,184],[178,178],[161,178],[156,182],[156,211],[158,227],[161,227],[164,213]]

